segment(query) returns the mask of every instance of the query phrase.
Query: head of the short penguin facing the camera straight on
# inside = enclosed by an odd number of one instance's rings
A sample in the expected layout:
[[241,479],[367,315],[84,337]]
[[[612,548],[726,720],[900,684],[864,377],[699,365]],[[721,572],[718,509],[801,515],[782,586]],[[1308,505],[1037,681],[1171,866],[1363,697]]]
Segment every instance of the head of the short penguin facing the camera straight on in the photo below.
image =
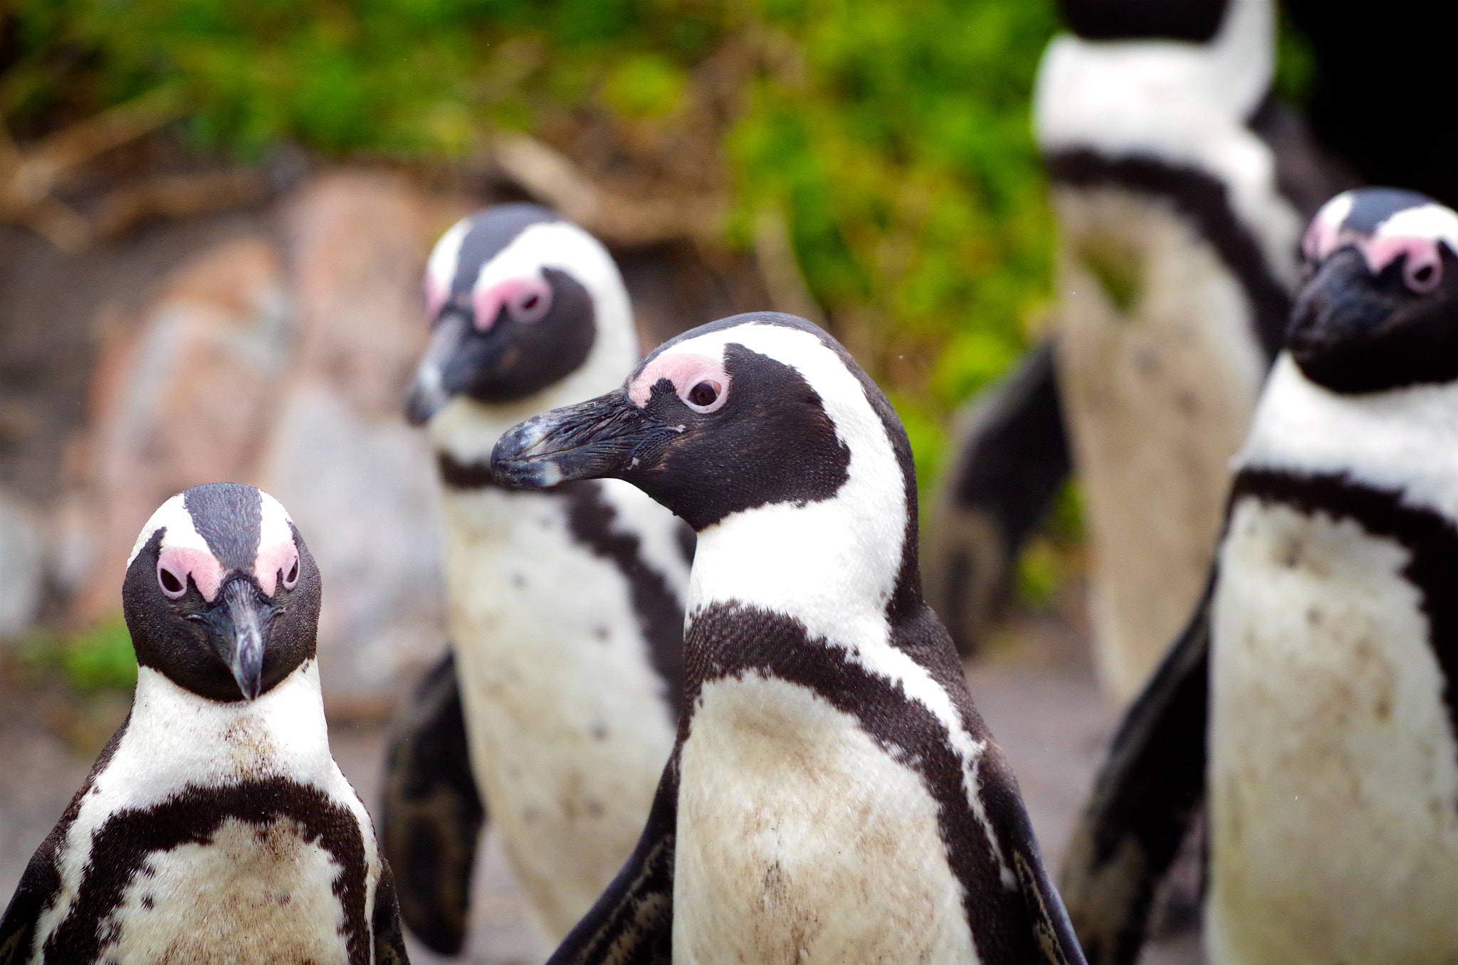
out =
[[208,700],[254,700],[315,653],[319,569],[278,500],[251,485],[163,503],[121,601],[137,663]]

